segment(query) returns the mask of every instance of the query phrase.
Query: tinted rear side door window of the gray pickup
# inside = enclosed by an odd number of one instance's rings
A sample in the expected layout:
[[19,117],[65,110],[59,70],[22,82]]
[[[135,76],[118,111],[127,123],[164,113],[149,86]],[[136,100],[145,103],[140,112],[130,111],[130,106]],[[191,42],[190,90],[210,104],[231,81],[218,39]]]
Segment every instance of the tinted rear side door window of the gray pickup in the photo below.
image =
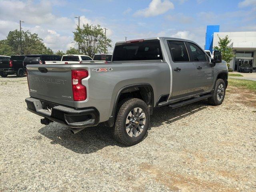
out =
[[183,41],[168,41],[174,62],[189,62],[188,52]]

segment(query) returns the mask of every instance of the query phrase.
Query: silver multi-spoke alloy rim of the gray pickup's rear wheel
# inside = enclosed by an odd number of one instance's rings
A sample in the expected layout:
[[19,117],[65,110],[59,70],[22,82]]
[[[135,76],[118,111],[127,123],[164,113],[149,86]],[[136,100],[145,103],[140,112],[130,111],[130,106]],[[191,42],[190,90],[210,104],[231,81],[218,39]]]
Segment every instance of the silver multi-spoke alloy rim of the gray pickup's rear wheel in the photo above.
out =
[[138,137],[144,129],[146,115],[142,108],[132,109],[126,117],[126,132],[130,137]]

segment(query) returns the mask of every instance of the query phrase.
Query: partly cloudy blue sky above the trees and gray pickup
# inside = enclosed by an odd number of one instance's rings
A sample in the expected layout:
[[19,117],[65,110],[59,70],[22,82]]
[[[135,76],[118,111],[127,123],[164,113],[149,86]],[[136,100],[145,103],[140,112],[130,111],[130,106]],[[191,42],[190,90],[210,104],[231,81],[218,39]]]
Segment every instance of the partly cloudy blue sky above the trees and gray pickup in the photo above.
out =
[[0,0],[0,39],[24,20],[22,28],[38,33],[46,46],[66,50],[76,46],[74,16],[108,28],[113,46],[125,36],[171,36],[203,47],[207,25],[218,24],[221,32],[256,31],[256,0]]

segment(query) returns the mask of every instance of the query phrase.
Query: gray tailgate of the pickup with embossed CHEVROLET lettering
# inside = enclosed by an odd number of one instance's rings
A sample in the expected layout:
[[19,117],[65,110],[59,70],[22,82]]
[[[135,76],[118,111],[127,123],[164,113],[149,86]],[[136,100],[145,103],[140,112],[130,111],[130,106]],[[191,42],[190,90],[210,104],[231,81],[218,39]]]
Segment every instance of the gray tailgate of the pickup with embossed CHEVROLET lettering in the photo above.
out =
[[74,107],[70,65],[38,64],[26,68],[31,97]]

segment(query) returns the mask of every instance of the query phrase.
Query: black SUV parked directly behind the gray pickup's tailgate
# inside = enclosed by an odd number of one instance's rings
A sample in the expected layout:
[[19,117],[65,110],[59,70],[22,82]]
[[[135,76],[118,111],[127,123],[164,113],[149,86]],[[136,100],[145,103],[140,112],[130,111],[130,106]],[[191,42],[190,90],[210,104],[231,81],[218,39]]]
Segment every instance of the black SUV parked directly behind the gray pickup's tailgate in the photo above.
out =
[[24,59],[24,67],[28,64],[45,64],[45,61],[60,61],[59,55],[27,55]]

